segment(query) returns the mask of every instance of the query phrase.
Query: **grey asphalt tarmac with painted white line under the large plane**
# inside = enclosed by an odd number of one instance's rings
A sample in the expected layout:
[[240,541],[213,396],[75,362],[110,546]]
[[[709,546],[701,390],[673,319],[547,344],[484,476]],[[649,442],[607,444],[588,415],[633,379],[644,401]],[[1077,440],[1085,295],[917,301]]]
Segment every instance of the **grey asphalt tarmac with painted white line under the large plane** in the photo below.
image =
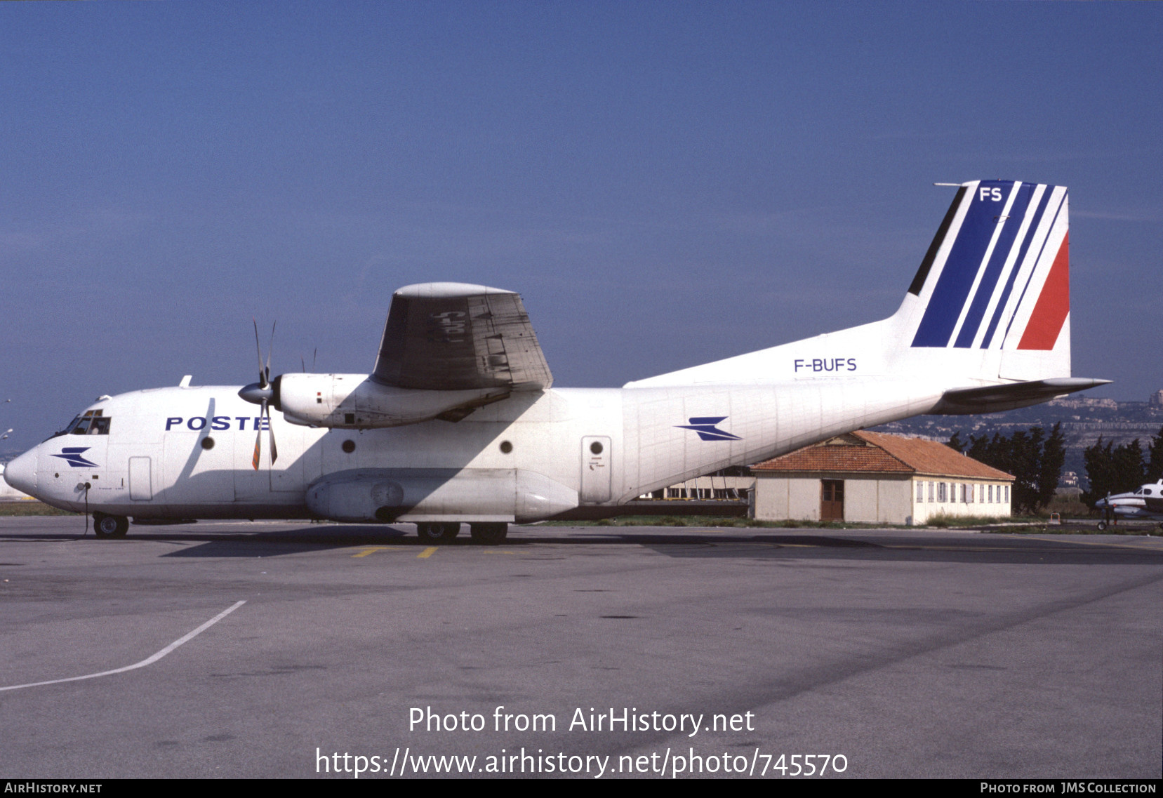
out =
[[1161,777],[1158,537],[83,523],[0,519],[8,778]]

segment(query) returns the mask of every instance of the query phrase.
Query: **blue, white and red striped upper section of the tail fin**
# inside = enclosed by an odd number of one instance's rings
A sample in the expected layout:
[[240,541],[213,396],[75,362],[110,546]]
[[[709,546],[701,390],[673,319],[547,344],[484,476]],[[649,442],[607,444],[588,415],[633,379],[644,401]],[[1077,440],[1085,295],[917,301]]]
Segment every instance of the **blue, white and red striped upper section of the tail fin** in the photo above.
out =
[[1069,376],[1069,227],[1064,186],[963,184],[908,288],[908,345],[1037,351],[1057,373],[1014,377]]

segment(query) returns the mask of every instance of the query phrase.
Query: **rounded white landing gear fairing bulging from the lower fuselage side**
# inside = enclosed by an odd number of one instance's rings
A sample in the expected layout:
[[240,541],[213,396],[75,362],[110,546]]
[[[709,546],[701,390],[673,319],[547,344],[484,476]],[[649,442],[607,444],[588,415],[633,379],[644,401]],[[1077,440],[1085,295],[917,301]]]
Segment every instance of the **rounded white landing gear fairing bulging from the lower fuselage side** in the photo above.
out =
[[356,469],[307,489],[311,511],[334,521],[520,523],[577,505],[577,491],[523,469]]

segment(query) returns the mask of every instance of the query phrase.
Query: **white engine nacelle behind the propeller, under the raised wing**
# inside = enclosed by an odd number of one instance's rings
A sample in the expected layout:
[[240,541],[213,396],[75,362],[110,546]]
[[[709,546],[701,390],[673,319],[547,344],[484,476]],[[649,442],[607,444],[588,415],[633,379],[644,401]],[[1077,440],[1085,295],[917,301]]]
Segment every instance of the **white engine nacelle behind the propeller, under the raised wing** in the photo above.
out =
[[423,391],[384,385],[368,375],[294,372],[277,377],[273,389],[274,409],[291,423],[351,429],[401,427],[435,418],[459,421],[509,394],[507,387]]

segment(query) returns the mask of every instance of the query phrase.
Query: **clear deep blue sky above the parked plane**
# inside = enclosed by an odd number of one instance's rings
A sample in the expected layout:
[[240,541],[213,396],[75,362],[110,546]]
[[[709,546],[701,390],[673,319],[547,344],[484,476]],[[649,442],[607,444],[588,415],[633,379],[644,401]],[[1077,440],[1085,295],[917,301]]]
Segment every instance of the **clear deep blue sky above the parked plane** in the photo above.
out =
[[[1163,387],[1158,3],[2,3],[0,429],[372,368],[525,295],[557,385],[892,313],[950,199],[1070,186],[1076,376]],[[265,339],[264,339],[265,345]]]

